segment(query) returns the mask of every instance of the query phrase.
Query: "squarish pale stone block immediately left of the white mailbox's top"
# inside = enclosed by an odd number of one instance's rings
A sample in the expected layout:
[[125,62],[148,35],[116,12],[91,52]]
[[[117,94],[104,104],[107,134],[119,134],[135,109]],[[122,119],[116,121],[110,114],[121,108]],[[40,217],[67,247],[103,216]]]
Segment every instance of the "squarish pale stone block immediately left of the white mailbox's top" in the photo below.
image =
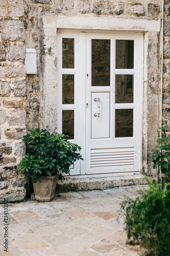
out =
[[25,46],[10,46],[9,47],[9,61],[25,60],[26,47]]

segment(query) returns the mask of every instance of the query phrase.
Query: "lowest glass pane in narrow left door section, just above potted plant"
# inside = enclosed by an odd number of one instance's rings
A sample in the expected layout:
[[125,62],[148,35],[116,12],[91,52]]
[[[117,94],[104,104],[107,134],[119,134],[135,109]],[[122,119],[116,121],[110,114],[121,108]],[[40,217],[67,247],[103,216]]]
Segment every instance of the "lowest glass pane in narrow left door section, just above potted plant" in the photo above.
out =
[[74,139],[74,110],[62,111],[62,133]]

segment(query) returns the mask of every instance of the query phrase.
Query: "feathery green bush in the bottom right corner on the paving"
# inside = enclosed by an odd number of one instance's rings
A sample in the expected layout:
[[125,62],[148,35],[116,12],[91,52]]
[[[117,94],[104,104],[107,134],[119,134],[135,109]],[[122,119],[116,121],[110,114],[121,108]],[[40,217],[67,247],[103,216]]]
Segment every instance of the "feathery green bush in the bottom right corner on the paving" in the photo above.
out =
[[135,200],[127,199],[121,204],[125,217],[129,243],[138,242],[147,248],[148,255],[170,254],[170,190],[161,189],[156,181],[150,181],[149,190],[140,190]]

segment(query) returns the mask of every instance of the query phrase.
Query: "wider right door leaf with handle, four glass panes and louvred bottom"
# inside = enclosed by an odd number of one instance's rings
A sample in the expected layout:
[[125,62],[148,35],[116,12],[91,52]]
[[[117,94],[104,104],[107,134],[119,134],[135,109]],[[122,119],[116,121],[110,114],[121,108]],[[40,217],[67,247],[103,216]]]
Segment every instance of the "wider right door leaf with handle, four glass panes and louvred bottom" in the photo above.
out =
[[86,174],[139,170],[139,46],[140,35],[86,34]]

